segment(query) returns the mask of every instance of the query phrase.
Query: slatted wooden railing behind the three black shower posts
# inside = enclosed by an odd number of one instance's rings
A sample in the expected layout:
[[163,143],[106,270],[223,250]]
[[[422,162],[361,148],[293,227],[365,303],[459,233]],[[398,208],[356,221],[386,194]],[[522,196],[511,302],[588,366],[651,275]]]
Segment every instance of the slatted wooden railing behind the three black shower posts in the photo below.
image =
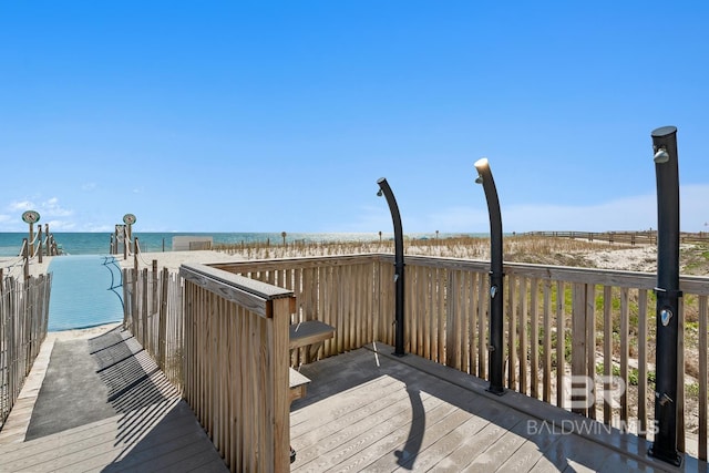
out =
[[[487,379],[490,264],[415,256],[405,264],[405,351]],[[392,255],[210,267],[292,291],[290,322],[321,320],[337,329],[321,357],[371,341],[394,345]],[[656,275],[525,264],[506,264],[504,273],[506,388],[571,409],[569,376],[588,377],[594,402],[574,410],[651,440]],[[705,460],[709,278],[682,276],[680,288],[679,448],[687,441]],[[219,307],[197,295],[189,301],[215,313]],[[291,366],[302,360],[296,353]]]

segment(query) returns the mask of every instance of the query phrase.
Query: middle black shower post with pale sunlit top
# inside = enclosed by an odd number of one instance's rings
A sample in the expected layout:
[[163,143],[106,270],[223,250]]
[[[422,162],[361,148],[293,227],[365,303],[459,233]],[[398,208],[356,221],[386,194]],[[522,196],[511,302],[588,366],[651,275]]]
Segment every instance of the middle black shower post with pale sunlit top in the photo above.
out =
[[500,200],[497,188],[492,178],[487,158],[475,162],[477,178],[475,182],[483,185],[487,213],[490,214],[490,388],[487,391],[495,394],[504,394],[503,379],[503,273],[502,273],[502,216],[500,215]]

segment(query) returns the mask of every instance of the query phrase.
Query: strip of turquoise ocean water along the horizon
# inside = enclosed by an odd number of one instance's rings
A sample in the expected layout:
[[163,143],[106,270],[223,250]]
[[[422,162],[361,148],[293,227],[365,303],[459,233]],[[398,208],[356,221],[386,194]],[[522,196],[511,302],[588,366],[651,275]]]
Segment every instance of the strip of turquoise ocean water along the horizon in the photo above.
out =
[[[111,248],[110,233],[53,233],[54,240],[66,255],[107,255]],[[440,234],[440,238],[463,234]],[[481,236],[480,234],[464,234]],[[142,251],[172,251],[175,236],[210,236],[215,244],[240,244],[270,240],[282,243],[280,233],[140,233],[134,232]],[[0,256],[18,256],[27,233],[0,233]],[[411,238],[435,238],[435,234],[407,234]],[[382,238],[393,238],[393,234],[382,234]],[[379,239],[379,233],[287,233],[286,243],[292,241],[367,241]]]

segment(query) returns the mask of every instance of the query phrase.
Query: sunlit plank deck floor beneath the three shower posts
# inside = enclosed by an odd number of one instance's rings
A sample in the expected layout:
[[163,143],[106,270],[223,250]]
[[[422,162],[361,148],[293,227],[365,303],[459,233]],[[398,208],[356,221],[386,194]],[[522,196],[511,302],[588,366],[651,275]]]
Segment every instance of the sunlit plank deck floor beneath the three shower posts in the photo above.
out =
[[291,405],[291,471],[706,471],[647,456],[647,443],[376,343],[304,366]]

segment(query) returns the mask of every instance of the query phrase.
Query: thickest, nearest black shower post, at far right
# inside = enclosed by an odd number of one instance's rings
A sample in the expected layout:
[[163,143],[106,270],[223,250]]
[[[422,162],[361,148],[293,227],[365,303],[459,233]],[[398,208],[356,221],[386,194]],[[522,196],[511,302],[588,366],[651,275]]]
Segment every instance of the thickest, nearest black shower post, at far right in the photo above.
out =
[[677,128],[653,131],[657,178],[657,341],[655,419],[650,455],[679,465],[677,452],[677,348],[679,290],[679,172]]

